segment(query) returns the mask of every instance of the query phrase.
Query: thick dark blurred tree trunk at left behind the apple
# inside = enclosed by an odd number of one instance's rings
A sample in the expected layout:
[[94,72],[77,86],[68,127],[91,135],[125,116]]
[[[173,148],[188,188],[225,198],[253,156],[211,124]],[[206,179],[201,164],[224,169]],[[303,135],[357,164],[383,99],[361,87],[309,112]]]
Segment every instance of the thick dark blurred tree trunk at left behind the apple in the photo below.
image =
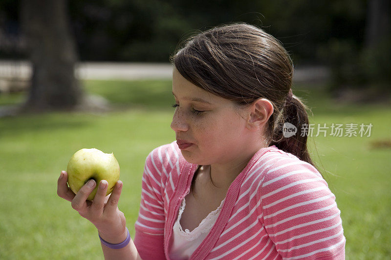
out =
[[22,0],[21,5],[22,29],[33,67],[24,108],[74,108],[84,94],[74,76],[77,55],[66,0]]

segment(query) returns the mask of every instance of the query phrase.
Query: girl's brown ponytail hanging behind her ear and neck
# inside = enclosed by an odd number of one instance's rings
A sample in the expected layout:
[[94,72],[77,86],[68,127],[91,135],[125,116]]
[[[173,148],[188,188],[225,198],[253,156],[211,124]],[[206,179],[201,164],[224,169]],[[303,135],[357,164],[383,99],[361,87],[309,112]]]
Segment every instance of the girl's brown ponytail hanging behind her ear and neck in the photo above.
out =
[[[308,133],[302,133],[301,131],[302,125],[308,125],[306,109],[307,106],[298,97],[294,96],[292,89],[290,89],[283,106],[281,120],[278,120],[270,145],[276,145],[282,151],[291,153],[315,167],[307,149]],[[295,135],[284,136],[283,127],[285,123],[293,124],[296,127],[297,132]],[[287,124],[285,124],[286,126]]]

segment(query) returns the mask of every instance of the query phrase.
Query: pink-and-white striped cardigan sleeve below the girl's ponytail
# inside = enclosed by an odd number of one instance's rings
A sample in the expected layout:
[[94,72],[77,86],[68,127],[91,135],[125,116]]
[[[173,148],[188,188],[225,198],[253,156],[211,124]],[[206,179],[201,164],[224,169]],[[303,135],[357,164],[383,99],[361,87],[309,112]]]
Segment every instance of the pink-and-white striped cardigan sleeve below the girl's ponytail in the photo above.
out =
[[282,257],[314,259],[343,252],[340,210],[319,171],[281,150],[266,154],[278,156],[270,156],[262,175],[260,220]]

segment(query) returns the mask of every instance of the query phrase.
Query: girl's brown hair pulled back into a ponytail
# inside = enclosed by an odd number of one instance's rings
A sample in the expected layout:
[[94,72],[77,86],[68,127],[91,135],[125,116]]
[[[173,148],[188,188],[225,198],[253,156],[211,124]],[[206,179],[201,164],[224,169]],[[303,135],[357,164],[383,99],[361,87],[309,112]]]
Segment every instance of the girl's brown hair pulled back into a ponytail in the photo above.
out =
[[[307,107],[292,94],[293,64],[279,40],[256,26],[234,23],[190,37],[170,60],[186,80],[239,107],[269,100],[274,112],[265,129],[268,145],[315,166],[307,135],[300,133],[308,124]],[[284,122],[297,127],[296,135],[283,136]]]

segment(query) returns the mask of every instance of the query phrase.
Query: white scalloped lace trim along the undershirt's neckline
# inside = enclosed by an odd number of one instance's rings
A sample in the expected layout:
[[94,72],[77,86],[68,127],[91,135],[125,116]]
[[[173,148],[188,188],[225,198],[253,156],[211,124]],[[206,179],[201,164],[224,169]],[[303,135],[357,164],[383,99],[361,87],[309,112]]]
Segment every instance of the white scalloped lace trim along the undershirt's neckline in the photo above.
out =
[[[224,198],[224,200],[225,200],[225,198]],[[186,206],[185,198],[183,198],[182,205],[179,209],[178,219],[176,220],[176,222],[174,224],[174,228],[179,229],[179,235],[188,241],[193,241],[193,240],[197,239],[201,233],[209,232],[212,229],[213,225],[216,222],[217,216],[220,213],[220,210],[223,206],[224,200],[221,201],[220,206],[218,206],[216,210],[209,213],[208,216],[206,216],[206,218],[203,219],[201,221],[201,223],[199,223],[199,225],[194,230],[192,230],[190,232],[190,230],[187,228],[185,229],[185,231],[183,231],[182,226],[180,225],[180,222],[179,222],[182,217],[182,213],[185,210],[185,206]],[[214,219],[214,221],[211,221],[212,219]]]

